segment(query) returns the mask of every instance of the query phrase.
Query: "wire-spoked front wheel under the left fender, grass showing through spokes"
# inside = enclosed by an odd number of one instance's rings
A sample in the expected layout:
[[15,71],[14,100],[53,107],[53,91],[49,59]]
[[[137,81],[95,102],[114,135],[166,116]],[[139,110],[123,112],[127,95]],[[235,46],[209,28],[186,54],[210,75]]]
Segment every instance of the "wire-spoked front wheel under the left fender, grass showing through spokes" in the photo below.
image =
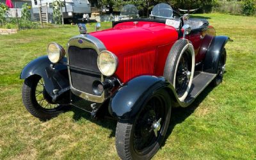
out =
[[[40,76],[32,76],[25,79],[22,86],[22,101],[31,115],[41,120],[49,120],[63,113],[63,106],[51,102],[44,87],[42,92],[36,90],[41,83],[44,86],[44,82]],[[42,100],[38,100],[39,95],[42,97]]]

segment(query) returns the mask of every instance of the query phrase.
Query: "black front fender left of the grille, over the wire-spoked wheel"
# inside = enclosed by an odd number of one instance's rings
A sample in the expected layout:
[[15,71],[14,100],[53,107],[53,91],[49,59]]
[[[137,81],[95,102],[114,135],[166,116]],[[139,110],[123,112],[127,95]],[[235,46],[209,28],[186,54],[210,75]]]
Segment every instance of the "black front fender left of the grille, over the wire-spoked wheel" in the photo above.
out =
[[[61,61],[66,62],[67,58]],[[40,76],[44,79],[45,90],[51,97],[54,97],[53,90],[67,90],[69,87],[67,65],[61,63],[52,65],[47,56],[41,56],[28,63],[23,68],[20,79],[31,76]]]

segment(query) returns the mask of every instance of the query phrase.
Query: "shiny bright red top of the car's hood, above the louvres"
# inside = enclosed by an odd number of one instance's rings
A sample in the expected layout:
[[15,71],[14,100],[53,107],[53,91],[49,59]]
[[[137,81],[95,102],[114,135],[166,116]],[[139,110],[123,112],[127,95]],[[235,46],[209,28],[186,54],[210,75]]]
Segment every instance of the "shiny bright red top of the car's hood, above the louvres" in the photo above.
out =
[[114,28],[90,33],[114,54],[140,51],[148,47],[170,44],[178,39],[176,29],[158,22],[122,22]]

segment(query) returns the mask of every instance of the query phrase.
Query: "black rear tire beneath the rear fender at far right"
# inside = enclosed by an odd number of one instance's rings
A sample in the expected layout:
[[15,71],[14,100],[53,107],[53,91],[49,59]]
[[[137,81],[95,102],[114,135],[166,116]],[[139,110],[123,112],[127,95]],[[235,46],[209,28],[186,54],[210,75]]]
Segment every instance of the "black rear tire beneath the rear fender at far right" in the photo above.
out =
[[226,52],[226,49],[224,48],[221,53],[220,60],[218,61],[217,76],[212,80],[212,83],[211,83],[213,87],[221,84],[223,80],[223,76],[225,73],[226,58],[227,58],[227,52]]

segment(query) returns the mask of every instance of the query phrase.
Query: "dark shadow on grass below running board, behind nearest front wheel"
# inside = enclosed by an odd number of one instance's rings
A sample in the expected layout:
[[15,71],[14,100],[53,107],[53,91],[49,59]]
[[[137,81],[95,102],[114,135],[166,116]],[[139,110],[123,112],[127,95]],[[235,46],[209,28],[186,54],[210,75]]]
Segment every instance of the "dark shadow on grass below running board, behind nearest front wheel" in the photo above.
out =
[[188,106],[187,108],[173,108],[172,109],[172,116],[170,120],[170,125],[168,127],[168,130],[166,132],[165,140],[161,147],[165,145],[166,139],[172,134],[173,129],[175,128],[175,125],[181,124],[188,118],[192,113],[194,113],[195,109],[198,108],[200,103],[207,97],[207,95],[214,89],[211,85],[207,86],[198,97],[196,97],[195,101]]

